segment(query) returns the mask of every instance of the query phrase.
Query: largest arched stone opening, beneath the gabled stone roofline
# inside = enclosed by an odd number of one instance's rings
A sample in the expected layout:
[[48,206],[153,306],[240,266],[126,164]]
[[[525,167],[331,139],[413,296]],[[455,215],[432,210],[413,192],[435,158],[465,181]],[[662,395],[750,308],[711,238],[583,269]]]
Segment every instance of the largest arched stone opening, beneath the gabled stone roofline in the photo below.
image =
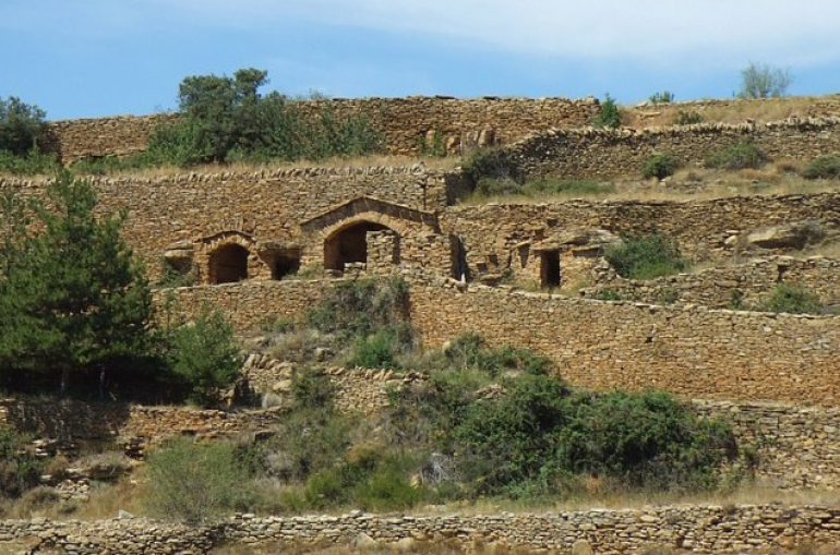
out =
[[[404,226],[385,215],[370,213],[324,230],[324,267],[343,272],[346,264],[369,264],[371,246],[369,241],[372,233],[376,234],[377,242],[383,243],[382,246],[388,253],[387,261],[382,260],[377,263],[398,264],[399,239],[405,234]],[[377,255],[382,256],[382,254],[384,253],[377,252]]]

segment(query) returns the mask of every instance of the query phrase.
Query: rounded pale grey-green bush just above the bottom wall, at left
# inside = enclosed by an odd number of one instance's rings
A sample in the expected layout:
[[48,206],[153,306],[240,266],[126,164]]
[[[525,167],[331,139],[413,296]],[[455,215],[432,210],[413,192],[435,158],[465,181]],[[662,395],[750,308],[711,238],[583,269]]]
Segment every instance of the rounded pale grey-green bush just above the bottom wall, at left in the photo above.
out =
[[254,504],[245,454],[226,442],[170,442],[146,461],[144,502],[160,518],[189,523],[248,510]]

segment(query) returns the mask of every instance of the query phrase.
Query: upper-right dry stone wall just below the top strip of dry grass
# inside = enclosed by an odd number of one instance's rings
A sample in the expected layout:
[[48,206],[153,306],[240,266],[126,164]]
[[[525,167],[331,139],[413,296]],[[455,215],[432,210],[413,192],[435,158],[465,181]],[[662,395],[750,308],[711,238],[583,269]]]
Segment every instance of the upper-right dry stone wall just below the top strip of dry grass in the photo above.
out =
[[840,152],[840,118],[768,123],[697,123],[643,129],[556,129],[524,138],[507,149],[523,176],[609,179],[641,176],[645,160],[669,153],[685,166],[703,165],[716,152],[749,141],[773,159],[809,160]]

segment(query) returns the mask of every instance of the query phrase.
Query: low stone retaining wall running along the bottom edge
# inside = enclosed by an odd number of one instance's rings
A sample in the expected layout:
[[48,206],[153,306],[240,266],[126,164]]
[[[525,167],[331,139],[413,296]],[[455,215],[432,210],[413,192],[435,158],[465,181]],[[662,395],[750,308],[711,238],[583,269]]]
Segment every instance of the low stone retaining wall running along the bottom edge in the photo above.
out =
[[[28,541],[35,553],[63,548],[80,555],[203,554],[214,545],[326,543],[357,548],[425,542],[472,542],[599,555],[653,547],[688,553],[749,553],[840,542],[840,509],[812,505],[668,506],[576,512],[403,516],[353,511],[336,517],[242,515],[201,528],[145,519],[94,522],[0,521],[3,542]],[[8,544],[8,543],[7,543]]]

